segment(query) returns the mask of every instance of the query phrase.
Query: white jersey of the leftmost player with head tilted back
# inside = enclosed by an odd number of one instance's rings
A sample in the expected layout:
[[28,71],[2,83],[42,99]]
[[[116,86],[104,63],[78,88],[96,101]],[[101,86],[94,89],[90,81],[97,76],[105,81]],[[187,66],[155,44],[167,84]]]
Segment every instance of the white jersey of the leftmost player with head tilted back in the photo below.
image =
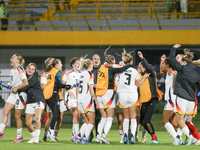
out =
[[24,68],[22,66],[17,67],[17,69],[11,69],[11,86],[13,88],[20,86],[24,79],[27,79]]

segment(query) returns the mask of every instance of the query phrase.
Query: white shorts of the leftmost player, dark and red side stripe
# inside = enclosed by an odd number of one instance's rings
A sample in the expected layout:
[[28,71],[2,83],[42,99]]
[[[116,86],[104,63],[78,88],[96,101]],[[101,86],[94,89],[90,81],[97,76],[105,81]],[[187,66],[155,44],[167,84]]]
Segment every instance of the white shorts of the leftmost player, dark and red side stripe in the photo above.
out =
[[27,101],[27,94],[21,92],[20,94],[10,93],[6,102],[14,104],[15,109],[24,109],[26,101]]

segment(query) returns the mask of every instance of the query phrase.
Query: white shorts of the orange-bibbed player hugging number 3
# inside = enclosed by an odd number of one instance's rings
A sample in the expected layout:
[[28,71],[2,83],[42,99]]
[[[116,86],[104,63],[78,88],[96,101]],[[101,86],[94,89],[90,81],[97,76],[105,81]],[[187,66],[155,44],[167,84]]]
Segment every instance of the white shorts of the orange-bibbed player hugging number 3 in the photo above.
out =
[[103,96],[97,96],[99,108],[115,108],[114,92],[107,90]]

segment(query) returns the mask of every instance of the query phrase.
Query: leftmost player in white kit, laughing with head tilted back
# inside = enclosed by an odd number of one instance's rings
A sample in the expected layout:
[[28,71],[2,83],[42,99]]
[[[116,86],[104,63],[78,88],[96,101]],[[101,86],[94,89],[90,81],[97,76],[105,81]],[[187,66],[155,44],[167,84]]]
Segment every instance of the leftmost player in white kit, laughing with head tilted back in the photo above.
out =
[[17,93],[18,89],[22,89],[25,86],[28,85],[28,80],[26,78],[25,71],[22,67],[22,65],[25,63],[23,57],[19,54],[14,54],[11,59],[11,66],[14,68],[11,69],[11,94],[8,97],[6,104],[4,106],[3,110],[3,117],[1,120],[0,125],[0,137],[4,137],[4,129],[6,127],[6,124],[8,122],[8,114],[9,112],[15,107],[15,119],[17,122],[17,137],[14,139],[13,143],[17,143],[23,140],[22,136],[22,120],[21,120],[21,114],[23,112],[27,95],[24,92],[21,92],[20,94]]

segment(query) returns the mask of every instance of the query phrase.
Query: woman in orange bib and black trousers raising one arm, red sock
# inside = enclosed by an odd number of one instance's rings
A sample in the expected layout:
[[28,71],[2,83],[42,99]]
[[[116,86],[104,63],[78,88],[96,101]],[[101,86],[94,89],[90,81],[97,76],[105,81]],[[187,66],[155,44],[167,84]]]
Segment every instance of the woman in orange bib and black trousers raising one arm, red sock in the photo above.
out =
[[150,67],[147,60],[143,57],[143,54],[140,51],[138,51],[138,56],[142,59],[140,65],[140,80],[144,77],[145,74],[150,73],[149,78],[146,79],[144,81],[144,84],[140,86],[139,102],[140,105],[142,105],[140,111],[140,124],[152,137],[152,140],[149,142],[149,144],[158,144],[154,127],[151,123],[151,117],[153,115],[154,108],[158,102],[158,94],[156,92],[156,73]]

